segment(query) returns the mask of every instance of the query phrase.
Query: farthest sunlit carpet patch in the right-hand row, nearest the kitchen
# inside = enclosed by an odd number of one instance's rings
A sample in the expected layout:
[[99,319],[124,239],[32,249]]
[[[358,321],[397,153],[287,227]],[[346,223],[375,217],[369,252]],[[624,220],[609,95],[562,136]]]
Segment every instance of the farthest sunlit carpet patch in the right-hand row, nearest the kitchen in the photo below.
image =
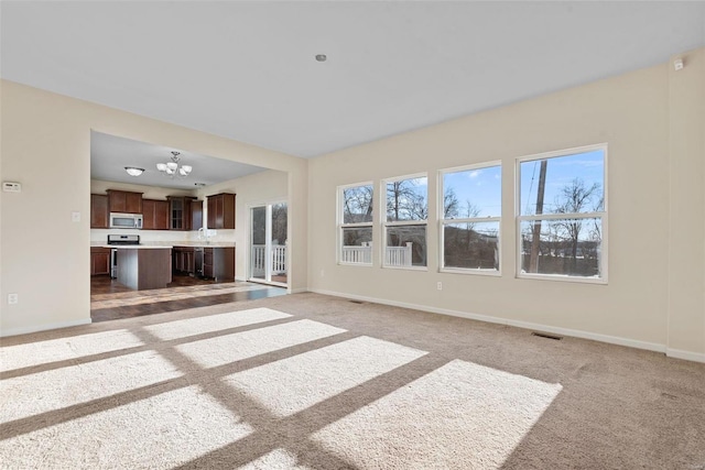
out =
[[145,326],[144,329],[156,336],[159,339],[166,341],[290,317],[291,315],[289,314],[261,307],[251,308],[249,310],[188,318],[185,320],[167,321],[159,325],[150,325]]

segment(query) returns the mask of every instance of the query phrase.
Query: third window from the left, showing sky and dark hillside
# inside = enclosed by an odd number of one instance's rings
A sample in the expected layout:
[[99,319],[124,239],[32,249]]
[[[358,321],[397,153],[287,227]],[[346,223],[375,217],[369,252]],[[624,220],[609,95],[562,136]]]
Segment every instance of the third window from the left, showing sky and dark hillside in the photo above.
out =
[[441,172],[441,271],[499,274],[502,167]]

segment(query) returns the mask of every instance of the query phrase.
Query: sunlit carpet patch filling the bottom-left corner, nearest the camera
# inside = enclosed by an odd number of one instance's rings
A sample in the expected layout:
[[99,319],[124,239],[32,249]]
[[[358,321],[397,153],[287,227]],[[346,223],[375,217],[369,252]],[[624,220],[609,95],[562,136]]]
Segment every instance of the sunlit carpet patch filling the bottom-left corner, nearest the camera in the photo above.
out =
[[0,441],[4,468],[173,468],[252,428],[188,386]]

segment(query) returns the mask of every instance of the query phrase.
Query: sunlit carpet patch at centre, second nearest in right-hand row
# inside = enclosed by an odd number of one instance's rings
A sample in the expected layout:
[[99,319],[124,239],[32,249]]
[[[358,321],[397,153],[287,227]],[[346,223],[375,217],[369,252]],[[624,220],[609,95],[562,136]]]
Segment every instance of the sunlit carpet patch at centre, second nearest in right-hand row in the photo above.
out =
[[279,417],[290,416],[426,354],[370,337],[304,352],[223,380]]

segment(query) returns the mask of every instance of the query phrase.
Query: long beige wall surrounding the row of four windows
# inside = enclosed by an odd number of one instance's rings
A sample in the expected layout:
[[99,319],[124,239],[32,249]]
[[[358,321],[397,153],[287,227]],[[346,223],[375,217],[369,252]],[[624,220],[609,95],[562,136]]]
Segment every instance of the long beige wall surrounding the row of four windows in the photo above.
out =
[[[696,66],[702,55],[686,58],[691,64],[677,80],[671,64],[663,64],[312,160],[310,288],[653,350],[669,346],[674,356],[686,351],[690,359],[705,360],[703,152],[669,139],[674,127],[688,141],[702,129],[702,107],[670,120],[690,100],[702,100],[705,74]],[[673,102],[676,95],[682,103]],[[609,145],[609,283],[516,278],[516,159],[603,142]],[[438,273],[437,172],[495,160],[503,172],[502,276]],[[674,162],[677,174],[687,176],[687,188],[674,189],[672,198],[668,175]],[[379,253],[373,267],[337,265],[336,186],[373,181],[379,207],[381,178],[419,172],[429,175],[427,271],[381,269]],[[682,212],[673,216],[677,226],[669,227],[665,221],[676,209]],[[375,240],[380,232],[376,223]],[[680,256],[669,260],[679,234]],[[693,261],[685,263],[690,253]],[[680,269],[686,271],[674,276]],[[684,276],[693,276],[692,285],[679,284]],[[436,289],[438,281],[443,291]],[[673,298],[676,284],[685,291],[679,300]],[[681,300],[681,294],[687,298]],[[680,325],[671,335],[669,316]]]

